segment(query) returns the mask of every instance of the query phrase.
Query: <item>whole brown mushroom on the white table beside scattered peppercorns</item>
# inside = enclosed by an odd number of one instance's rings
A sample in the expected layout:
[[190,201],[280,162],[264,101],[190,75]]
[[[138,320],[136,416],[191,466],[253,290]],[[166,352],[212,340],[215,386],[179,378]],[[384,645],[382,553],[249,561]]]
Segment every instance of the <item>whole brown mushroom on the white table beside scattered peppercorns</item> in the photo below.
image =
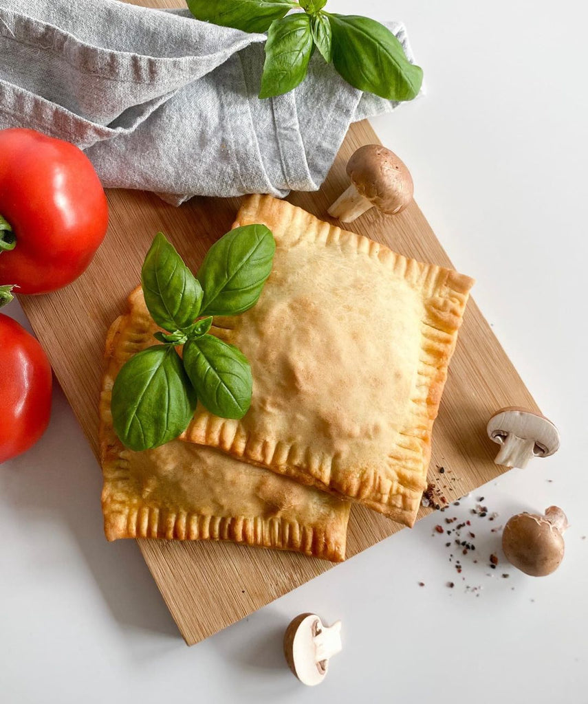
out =
[[518,513],[508,520],[502,534],[506,559],[532,577],[551,574],[563,560],[567,528],[568,519],[558,506],[546,508],[543,516]]

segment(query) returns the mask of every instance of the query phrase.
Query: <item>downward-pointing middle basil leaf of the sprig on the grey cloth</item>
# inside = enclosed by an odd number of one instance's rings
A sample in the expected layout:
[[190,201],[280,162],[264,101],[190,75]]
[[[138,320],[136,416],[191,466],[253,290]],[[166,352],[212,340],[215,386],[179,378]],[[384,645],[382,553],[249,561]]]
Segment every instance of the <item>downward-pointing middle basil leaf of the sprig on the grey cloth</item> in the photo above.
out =
[[272,98],[291,91],[304,80],[313,51],[311,18],[306,13],[275,20],[265,42],[265,62],[260,98]]

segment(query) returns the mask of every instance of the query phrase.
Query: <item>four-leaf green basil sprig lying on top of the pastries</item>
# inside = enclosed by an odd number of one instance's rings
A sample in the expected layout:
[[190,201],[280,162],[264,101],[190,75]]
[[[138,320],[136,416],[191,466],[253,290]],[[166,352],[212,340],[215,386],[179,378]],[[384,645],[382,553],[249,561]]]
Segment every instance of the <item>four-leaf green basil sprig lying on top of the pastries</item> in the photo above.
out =
[[156,332],[162,344],[132,356],[115,379],[113,427],[125,446],[142,451],[177,438],[197,401],[221,417],[245,415],[253,388],[249,362],[208,333],[213,315],[237,315],[256,304],[274,252],[265,225],[238,227],[213,244],[194,277],[165,236],[156,235],[142,283],[151,317],[167,332]]

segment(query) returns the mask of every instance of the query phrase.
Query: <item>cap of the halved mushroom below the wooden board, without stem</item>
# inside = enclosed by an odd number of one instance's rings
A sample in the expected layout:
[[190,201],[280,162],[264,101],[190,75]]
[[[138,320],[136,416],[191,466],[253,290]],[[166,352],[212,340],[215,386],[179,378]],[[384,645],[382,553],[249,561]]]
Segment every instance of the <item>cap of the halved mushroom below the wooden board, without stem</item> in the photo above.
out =
[[315,661],[316,648],[313,638],[323,623],[316,614],[296,616],[284,634],[284,655],[290,670],[304,684],[320,684],[327,674],[327,660]]

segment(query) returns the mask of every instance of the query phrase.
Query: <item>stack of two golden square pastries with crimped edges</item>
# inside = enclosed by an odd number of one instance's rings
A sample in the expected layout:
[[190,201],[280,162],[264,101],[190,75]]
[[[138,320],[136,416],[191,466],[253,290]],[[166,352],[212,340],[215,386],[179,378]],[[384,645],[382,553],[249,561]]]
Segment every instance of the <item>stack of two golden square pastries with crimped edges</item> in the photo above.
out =
[[198,406],[178,440],[133,452],[111,389],[157,331],[141,289],[111,326],[101,395],[106,536],[233,540],[343,560],[351,501],[412,526],[472,279],[406,259],[285,201],[250,196],[234,227],[273,232],[273,270],[211,333],[251,364],[241,420]]

